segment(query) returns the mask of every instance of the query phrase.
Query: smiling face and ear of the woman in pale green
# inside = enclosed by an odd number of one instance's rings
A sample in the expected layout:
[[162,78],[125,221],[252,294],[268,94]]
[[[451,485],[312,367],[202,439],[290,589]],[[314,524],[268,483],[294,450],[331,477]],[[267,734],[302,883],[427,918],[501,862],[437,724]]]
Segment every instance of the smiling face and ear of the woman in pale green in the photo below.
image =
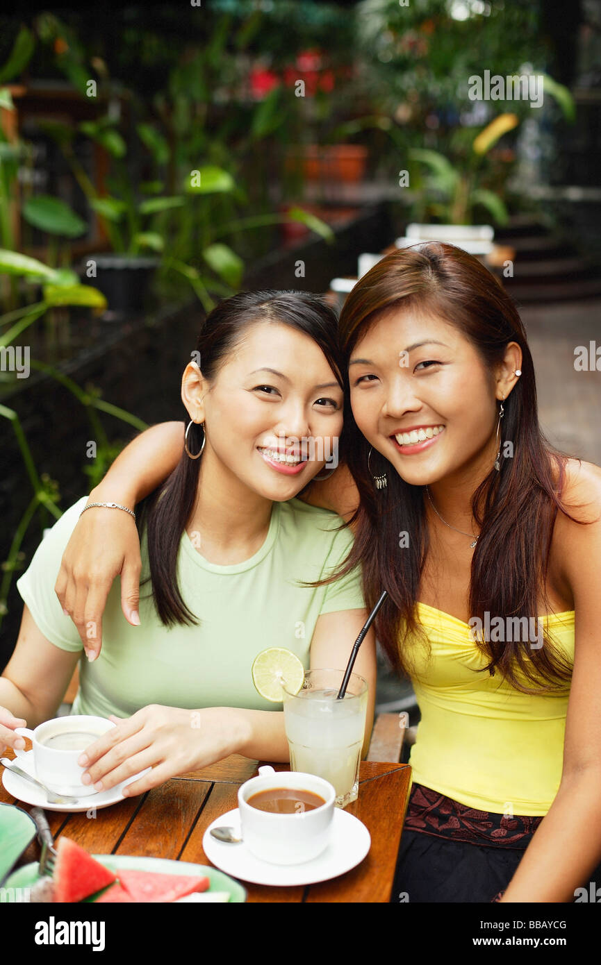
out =
[[205,422],[203,475],[281,502],[335,465],[343,391],[320,346],[290,325],[250,325],[211,384],[190,363],[182,398]]

